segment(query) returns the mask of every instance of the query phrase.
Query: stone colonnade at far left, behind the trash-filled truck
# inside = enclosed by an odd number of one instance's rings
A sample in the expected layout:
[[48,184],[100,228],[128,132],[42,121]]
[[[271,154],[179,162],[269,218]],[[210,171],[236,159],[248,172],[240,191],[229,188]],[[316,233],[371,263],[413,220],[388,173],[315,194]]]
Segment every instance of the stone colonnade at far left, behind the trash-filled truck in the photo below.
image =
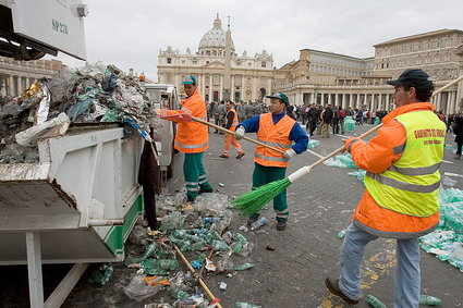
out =
[[65,65],[58,60],[16,61],[0,57],[0,95],[17,96],[41,77],[51,78]]

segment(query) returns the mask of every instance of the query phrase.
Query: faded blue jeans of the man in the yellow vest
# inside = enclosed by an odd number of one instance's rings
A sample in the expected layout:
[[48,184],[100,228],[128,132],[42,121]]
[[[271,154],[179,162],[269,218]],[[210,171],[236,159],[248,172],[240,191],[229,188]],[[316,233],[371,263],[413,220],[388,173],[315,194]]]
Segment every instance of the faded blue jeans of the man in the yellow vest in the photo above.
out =
[[[339,287],[352,299],[361,293],[361,263],[365,246],[378,238],[355,224],[345,233],[341,252],[341,276]],[[418,238],[397,239],[394,308],[418,307],[419,300],[419,243]]]

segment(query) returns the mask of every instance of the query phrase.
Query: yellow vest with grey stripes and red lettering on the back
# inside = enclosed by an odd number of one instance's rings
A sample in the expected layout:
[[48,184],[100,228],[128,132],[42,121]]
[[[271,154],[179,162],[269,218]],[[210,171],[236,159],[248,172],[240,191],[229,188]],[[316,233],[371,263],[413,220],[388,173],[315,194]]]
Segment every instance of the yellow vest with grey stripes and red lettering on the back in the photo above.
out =
[[367,172],[365,186],[380,207],[407,215],[430,217],[439,211],[439,167],[446,125],[428,110],[394,119],[405,128],[403,153],[387,171]]

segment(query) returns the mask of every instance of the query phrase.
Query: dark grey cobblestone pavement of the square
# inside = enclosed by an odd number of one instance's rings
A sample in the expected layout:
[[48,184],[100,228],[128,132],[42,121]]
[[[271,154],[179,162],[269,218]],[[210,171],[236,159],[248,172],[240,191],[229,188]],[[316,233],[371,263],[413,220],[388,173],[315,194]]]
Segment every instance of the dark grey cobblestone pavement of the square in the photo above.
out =
[[[363,133],[370,127],[373,126],[357,127],[356,133]],[[320,146],[313,149],[313,152],[295,157],[287,174],[314,163],[319,159],[317,155],[325,156],[342,145],[340,135],[328,139],[315,136],[314,139],[320,140]],[[251,188],[255,146],[245,140],[241,144],[246,151],[241,160],[233,156],[221,159],[219,156],[222,152],[223,135],[210,134],[210,149],[205,153],[204,162],[209,180],[218,193],[237,196]],[[447,137],[447,144],[453,144],[452,135]],[[446,150],[442,174],[463,174],[463,160],[455,160],[453,156],[451,151]],[[182,161],[182,153],[178,153],[176,171],[169,183],[169,193],[183,188]],[[275,229],[276,220],[271,206],[260,212],[269,223],[256,231],[244,233],[255,245],[253,252],[246,258],[234,259],[235,263],[248,261],[256,263],[256,267],[234,272],[232,278],[212,274],[204,280],[210,291],[221,299],[223,307],[233,307],[236,301],[277,308],[344,307],[345,304],[328,293],[324,280],[327,275],[339,274],[342,239],[336,235],[350,224],[350,218],[364,190],[361,182],[348,175],[348,172],[352,171],[355,170],[320,165],[306,177],[292,184],[288,188],[290,221],[285,231]],[[463,189],[463,178],[453,180],[459,180],[454,187]],[[245,222],[246,219],[236,213],[231,227],[237,231]],[[275,250],[267,250],[267,245],[272,246]],[[392,307],[393,298],[394,254],[394,241],[377,239],[367,246],[362,267],[363,294],[375,295],[388,307]],[[185,267],[182,268],[186,270]],[[143,303],[159,303],[161,297],[170,300],[166,293],[142,303],[130,300],[122,293],[122,287],[129,284],[133,272],[119,264],[115,267],[114,280],[98,288],[88,286],[87,271],[63,307],[143,307]],[[219,289],[220,282],[228,284],[227,291]],[[25,283],[27,288],[26,280]],[[462,285],[463,274],[459,270],[422,250],[422,294],[441,298],[440,307],[459,307],[463,304]],[[361,301],[355,307],[368,305]]]

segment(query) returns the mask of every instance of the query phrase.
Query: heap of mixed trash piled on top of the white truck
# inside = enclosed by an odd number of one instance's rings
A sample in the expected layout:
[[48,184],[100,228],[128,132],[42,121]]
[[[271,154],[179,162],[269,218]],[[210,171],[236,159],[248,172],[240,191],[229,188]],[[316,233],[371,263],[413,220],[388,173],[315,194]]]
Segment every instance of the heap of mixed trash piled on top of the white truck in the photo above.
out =
[[138,78],[101,62],[65,67],[0,108],[0,163],[38,161],[37,141],[72,123],[125,122],[145,138],[162,125]]

